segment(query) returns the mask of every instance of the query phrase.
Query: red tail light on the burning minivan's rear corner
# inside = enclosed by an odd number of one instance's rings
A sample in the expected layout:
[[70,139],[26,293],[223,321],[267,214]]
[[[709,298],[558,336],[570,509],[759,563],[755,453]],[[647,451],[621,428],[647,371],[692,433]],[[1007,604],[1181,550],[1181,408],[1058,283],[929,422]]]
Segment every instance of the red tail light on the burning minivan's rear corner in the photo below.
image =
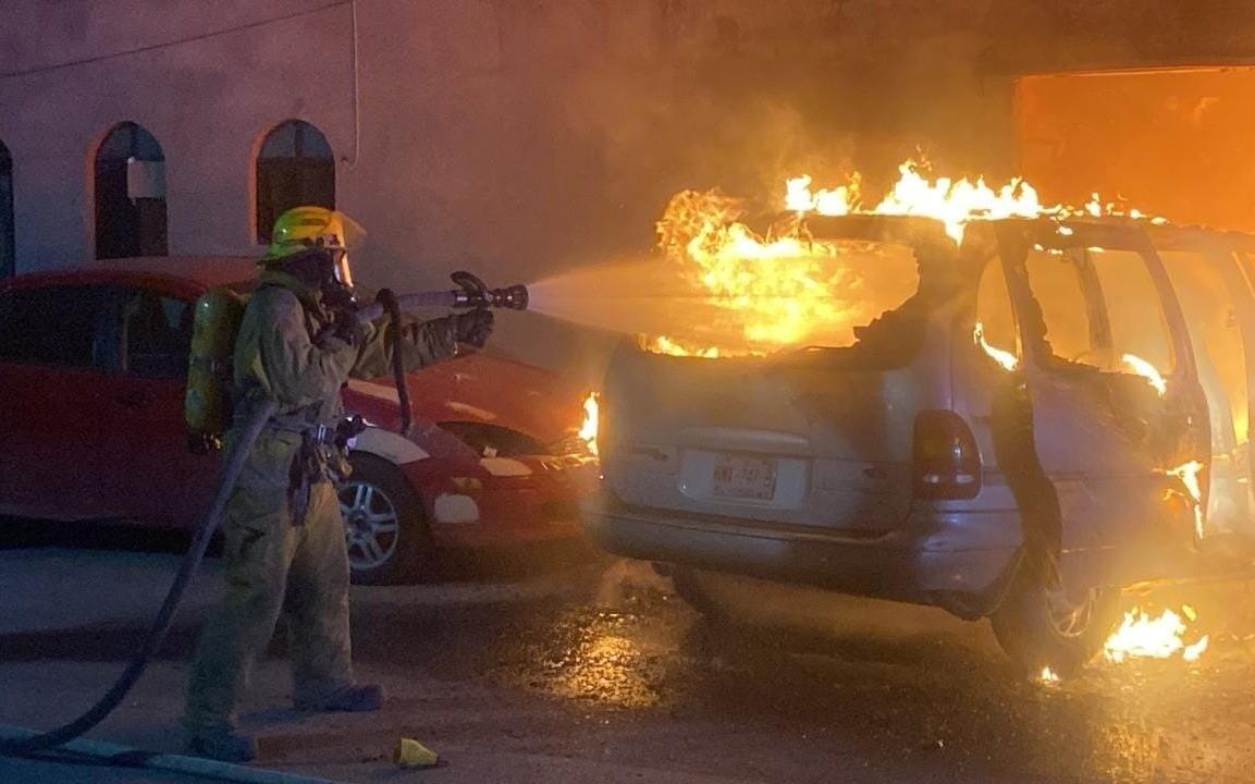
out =
[[976,498],[980,472],[980,450],[963,417],[953,411],[921,411],[915,417],[915,498]]

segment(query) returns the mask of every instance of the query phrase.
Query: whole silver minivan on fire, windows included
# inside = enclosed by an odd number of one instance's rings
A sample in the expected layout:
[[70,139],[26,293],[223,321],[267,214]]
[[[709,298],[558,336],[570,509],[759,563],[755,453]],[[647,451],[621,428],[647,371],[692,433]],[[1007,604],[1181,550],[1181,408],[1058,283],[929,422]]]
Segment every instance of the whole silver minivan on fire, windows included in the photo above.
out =
[[[1255,239],[802,220],[838,268],[822,334],[616,352],[585,509],[602,547],[665,565],[698,608],[727,573],[988,617],[1063,675],[1122,589],[1247,570]],[[668,342],[710,346],[710,320]]]

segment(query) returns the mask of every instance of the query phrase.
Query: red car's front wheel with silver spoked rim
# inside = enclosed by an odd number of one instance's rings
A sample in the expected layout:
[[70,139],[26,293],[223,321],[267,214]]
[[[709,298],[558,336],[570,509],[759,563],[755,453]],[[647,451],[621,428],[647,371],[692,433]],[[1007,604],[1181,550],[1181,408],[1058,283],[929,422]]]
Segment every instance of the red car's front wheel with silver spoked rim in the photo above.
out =
[[435,545],[418,494],[392,462],[353,452],[340,490],[349,572],[355,584],[422,582]]

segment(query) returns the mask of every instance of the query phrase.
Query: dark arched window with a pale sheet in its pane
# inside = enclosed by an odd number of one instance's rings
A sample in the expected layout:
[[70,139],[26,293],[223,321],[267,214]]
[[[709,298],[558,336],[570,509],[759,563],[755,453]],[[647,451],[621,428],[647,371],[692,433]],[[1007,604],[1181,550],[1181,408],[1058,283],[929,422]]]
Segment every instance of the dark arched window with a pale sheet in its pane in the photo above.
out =
[[166,156],[152,133],[118,123],[95,151],[95,258],[167,253]]

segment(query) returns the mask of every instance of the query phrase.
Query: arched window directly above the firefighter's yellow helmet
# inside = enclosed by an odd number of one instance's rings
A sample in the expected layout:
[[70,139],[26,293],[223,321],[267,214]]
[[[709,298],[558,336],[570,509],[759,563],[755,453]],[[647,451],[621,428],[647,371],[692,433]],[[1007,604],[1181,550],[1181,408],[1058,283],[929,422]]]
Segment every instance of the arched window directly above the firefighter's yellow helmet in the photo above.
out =
[[335,158],[321,131],[289,119],[257,151],[257,242],[270,241],[276,217],[304,205],[335,209]]

